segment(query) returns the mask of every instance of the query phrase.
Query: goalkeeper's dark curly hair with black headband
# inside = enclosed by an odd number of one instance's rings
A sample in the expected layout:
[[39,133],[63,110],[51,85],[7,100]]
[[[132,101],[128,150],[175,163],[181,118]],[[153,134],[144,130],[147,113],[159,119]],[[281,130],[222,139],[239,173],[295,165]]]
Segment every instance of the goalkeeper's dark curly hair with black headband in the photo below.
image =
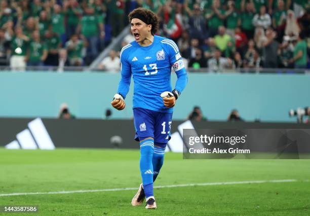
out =
[[148,9],[137,8],[137,9],[133,10],[132,12],[130,12],[130,14],[128,14],[129,22],[131,22],[131,20],[133,18],[135,18],[134,16],[137,14],[142,16],[142,17],[145,17],[145,19],[147,21],[146,24],[152,25],[151,34],[154,35],[159,28],[159,22],[158,22],[157,15]]

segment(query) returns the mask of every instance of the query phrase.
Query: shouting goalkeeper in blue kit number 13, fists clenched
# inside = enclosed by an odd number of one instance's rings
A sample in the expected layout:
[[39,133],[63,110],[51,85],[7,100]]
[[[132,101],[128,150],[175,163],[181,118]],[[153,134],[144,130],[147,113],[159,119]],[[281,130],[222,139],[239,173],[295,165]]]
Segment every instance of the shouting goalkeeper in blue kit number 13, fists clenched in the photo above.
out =
[[[128,17],[135,41],[121,51],[122,78],[111,104],[117,110],[125,108],[124,99],[133,77],[135,139],[140,145],[142,184],[131,204],[141,205],[146,198],[145,208],[154,209],[157,204],[153,182],[164,162],[173,106],[186,86],[187,74],[177,45],[172,40],[154,35],[159,22],[153,12],[138,8]],[[177,75],[174,90],[170,80],[171,67]]]

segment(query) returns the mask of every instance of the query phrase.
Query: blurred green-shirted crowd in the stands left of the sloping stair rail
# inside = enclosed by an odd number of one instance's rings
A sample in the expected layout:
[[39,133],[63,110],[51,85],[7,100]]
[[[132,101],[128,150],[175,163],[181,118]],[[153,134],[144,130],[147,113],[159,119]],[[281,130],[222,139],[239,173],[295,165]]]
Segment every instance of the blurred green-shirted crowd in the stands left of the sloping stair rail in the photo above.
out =
[[89,65],[124,28],[124,3],[1,0],[0,65],[14,70]]

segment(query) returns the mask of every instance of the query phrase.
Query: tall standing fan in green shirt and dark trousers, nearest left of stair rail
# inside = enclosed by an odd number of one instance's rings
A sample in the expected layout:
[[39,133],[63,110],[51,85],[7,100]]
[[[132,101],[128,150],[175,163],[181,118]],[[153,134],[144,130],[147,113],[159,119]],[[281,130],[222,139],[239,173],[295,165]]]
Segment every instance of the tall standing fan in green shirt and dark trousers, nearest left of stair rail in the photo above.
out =
[[87,64],[97,57],[99,51],[99,38],[103,39],[105,36],[103,23],[100,22],[94,12],[95,10],[90,6],[85,8],[85,14],[83,15],[77,29],[77,32],[81,32],[88,41],[87,56],[85,59]]

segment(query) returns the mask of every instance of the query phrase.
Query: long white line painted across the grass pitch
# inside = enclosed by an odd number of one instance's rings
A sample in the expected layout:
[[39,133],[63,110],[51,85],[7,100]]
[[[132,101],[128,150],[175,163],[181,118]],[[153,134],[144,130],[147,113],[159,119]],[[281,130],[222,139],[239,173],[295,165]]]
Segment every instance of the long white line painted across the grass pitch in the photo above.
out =
[[[154,188],[176,188],[176,187],[192,187],[192,186],[241,185],[241,184],[262,184],[262,183],[286,183],[286,182],[297,182],[297,179],[243,181],[243,182],[192,183],[192,184],[181,184],[181,185],[155,186]],[[74,194],[74,193],[108,192],[108,191],[131,191],[131,190],[137,190],[137,189],[138,188],[136,187],[136,188],[111,188],[111,189],[98,189],[98,190],[79,190],[79,191],[29,192],[29,193],[0,194],[0,197],[19,196],[19,195]]]

